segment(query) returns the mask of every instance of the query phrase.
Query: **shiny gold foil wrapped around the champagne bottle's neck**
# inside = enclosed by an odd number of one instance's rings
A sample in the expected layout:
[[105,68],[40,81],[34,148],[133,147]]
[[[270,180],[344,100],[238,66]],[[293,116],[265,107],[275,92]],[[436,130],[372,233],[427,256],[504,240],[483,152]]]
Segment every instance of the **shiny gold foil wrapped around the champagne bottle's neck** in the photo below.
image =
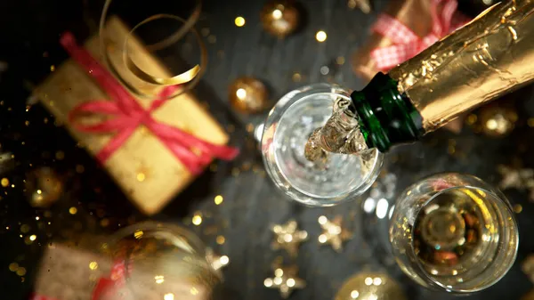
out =
[[433,131],[534,78],[534,1],[503,1],[392,69]]

